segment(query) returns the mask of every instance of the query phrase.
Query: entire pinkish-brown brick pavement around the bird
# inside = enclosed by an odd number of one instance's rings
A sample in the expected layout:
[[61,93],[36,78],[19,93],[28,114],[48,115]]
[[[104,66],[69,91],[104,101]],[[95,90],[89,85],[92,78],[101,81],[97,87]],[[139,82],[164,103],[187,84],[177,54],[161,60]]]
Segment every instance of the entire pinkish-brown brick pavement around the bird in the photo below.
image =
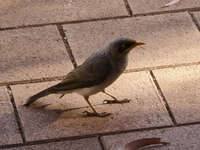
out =
[[[0,149],[115,150],[129,141],[161,137],[154,149],[198,150],[200,1],[0,0]],[[147,43],[129,56],[125,73],[107,91],[123,105],[104,105],[106,118],[85,118],[83,98],[50,95],[34,107],[32,94],[58,83],[111,40]],[[152,148],[150,148],[152,149]]]

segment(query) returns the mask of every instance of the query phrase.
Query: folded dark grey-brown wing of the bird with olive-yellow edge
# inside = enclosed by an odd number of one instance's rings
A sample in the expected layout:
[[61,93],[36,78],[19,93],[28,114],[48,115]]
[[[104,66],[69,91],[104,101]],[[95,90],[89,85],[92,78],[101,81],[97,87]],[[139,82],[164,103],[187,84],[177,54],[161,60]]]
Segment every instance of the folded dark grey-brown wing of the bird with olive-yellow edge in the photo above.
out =
[[110,61],[105,57],[96,57],[68,73],[66,78],[53,87],[53,91],[67,91],[91,87],[102,83],[112,69]]

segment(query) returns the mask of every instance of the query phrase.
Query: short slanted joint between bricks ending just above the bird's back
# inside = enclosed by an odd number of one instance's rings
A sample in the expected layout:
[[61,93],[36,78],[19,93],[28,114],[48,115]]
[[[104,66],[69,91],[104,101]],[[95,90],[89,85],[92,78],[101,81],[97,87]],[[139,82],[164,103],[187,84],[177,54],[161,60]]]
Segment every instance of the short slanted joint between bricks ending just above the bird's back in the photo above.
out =
[[76,63],[75,57],[74,57],[74,55],[72,53],[72,49],[71,49],[71,47],[69,45],[69,42],[67,40],[67,35],[64,32],[63,26],[62,25],[57,25],[57,28],[58,28],[58,31],[60,33],[60,36],[62,37],[63,43],[64,43],[65,48],[66,48],[67,53],[68,53],[68,56],[69,56],[69,58],[70,58],[70,60],[71,60],[71,62],[73,64],[74,68],[76,68],[77,67],[77,63]]

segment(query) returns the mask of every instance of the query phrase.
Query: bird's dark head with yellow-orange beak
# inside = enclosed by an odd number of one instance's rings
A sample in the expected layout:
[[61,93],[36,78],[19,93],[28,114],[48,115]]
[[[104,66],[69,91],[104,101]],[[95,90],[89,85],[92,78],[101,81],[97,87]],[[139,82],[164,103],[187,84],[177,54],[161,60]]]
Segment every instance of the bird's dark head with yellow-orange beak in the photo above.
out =
[[129,38],[118,38],[111,42],[109,45],[109,50],[112,56],[120,58],[126,56],[133,48],[139,45],[145,45],[145,43]]

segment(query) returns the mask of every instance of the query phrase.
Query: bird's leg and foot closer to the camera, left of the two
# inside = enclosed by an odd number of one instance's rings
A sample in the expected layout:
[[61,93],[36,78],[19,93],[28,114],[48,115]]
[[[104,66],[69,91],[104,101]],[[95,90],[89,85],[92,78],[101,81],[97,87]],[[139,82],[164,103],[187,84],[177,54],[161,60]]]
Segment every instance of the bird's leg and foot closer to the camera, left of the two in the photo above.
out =
[[106,113],[106,112],[103,112],[103,113],[98,113],[94,107],[92,106],[92,104],[90,103],[89,101],[89,97],[88,96],[84,96],[86,102],[88,103],[88,105],[90,106],[90,108],[92,109],[93,112],[89,112],[89,111],[84,111],[84,113],[86,113],[86,116],[87,117],[106,117],[106,116],[109,116],[110,113]]

